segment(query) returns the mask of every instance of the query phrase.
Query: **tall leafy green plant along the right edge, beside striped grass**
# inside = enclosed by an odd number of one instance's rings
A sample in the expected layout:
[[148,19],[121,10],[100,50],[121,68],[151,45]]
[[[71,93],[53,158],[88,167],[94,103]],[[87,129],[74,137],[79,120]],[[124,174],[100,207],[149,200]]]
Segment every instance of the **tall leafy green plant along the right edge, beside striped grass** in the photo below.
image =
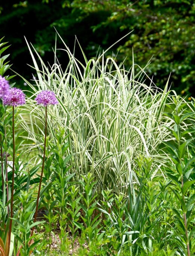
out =
[[[191,111],[190,111],[191,108]],[[188,111],[187,111],[188,110]],[[193,210],[195,203],[194,194],[194,162],[195,157],[192,154],[193,135],[195,133],[194,106],[189,107],[179,97],[174,98],[174,104],[171,105],[171,113],[166,115],[174,120],[174,129],[171,130],[174,140],[166,142],[170,152],[172,165],[167,169],[167,176],[171,180],[171,189],[175,194],[175,200],[179,208],[172,207],[177,220],[175,227],[176,238],[181,253],[193,255],[195,252],[195,240],[193,220],[195,212]]]

